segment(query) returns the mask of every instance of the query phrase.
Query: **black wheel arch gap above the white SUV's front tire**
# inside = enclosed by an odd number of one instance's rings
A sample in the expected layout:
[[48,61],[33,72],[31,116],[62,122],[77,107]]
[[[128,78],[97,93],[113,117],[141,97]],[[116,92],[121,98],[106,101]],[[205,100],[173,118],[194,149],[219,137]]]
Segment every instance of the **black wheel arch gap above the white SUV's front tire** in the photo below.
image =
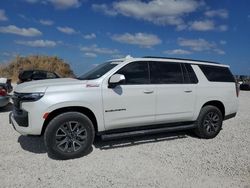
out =
[[68,107],[58,108],[58,109],[56,109],[48,114],[48,116],[46,117],[46,119],[43,123],[41,135],[44,134],[49,122],[54,117],[58,116],[59,114],[65,113],[65,112],[80,112],[80,113],[86,115],[93,123],[95,133],[98,132],[98,124],[97,124],[96,116],[90,109],[88,109],[86,107],[81,107],[81,106],[68,106]]

